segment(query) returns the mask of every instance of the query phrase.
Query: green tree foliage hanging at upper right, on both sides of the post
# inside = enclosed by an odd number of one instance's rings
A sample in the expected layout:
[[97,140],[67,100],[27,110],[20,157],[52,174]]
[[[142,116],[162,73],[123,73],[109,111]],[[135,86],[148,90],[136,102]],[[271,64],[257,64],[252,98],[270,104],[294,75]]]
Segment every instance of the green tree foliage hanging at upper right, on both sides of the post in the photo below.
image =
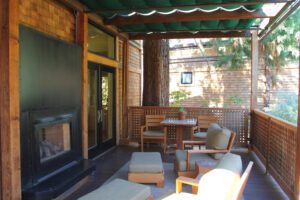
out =
[[[280,68],[289,60],[299,59],[300,40],[300,8],[289,16],[279,27],[266,37],[261,48],[266,67]],[[218,53],[216,67],[230,69],[241,68],[246,59],[250,58],[250,39],[214,39],[212,40]]]

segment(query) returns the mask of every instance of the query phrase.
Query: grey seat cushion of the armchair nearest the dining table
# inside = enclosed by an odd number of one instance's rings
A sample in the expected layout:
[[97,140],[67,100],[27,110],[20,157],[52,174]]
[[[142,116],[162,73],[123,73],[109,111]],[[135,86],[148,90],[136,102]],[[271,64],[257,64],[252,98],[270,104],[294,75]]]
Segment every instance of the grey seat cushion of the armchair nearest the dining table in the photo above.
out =
[[[184,150],[176,150],[175,159],[178,163],[178,170],[180,172],[186,171],[186,151]],[[190,170],[195,170],[196,161],[198,161],[203,167],[215,167],[218,163],[218,160],[210,157],[207,154],[191,154],[190,158]]]

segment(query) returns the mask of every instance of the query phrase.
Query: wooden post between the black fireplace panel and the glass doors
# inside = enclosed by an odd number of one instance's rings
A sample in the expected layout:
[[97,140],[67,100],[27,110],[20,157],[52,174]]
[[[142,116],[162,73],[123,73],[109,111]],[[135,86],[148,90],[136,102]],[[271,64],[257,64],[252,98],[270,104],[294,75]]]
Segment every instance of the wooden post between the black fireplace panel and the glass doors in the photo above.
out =
[[81,86],[81,116],[82,116],[82,154],[88,158],[88,16],[83,12],[77,15],[76,42],[82,46],[82,86]]

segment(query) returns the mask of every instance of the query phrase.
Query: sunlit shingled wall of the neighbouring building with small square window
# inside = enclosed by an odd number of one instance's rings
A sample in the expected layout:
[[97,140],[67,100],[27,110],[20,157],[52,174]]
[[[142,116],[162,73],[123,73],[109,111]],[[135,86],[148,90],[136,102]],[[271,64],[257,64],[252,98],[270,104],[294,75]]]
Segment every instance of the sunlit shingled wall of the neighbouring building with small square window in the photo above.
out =
[[[183,102],[187,107],[245,107],[250,108],[251,67],[250,62],[238,70],[215,68],[213,56],[201,57],[197,49],[185,48],[170,52],[170,92],[184,90],[190,96]],[[275,70],[273,70],[275,71]],[[181,73],[192,72],[193,83],[181,84]],[[270,103],[280,102],[287,93],[296,93],[298,88],[297,65],[289,64],[277,71],[277,85],[270,90]],[[258,72],[258,108],[265,105],[266,77],[263,63]],[[236,103],[239,100],[240,103]]]

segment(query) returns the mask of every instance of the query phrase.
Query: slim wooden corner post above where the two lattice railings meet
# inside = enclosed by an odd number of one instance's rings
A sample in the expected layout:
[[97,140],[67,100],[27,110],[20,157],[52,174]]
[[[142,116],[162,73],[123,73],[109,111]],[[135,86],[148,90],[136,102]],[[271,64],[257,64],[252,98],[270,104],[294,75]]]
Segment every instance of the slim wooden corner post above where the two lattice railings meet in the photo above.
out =
[[251,112],[257,108],[257,82],[258,82],[258,36],[257,31],[253,31],[251,36]]

